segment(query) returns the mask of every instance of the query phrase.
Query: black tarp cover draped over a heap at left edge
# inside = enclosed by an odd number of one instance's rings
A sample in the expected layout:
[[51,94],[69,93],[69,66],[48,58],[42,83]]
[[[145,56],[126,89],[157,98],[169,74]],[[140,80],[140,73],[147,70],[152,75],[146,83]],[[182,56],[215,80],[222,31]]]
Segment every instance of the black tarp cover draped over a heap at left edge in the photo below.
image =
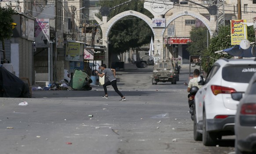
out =
[[0,67],[0,97],[31,97],[29,86],[17,76]]

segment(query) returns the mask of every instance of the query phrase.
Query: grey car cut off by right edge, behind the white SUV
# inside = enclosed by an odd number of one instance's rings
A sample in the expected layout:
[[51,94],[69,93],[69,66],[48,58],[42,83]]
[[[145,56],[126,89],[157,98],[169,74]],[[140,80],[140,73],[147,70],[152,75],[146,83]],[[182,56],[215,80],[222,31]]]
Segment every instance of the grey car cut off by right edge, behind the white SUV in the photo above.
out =
[[235,153],[256,154],[256,73],[244,96],[241,92],[232,93],[231,96],[234,100],[241,99],[235,115]]

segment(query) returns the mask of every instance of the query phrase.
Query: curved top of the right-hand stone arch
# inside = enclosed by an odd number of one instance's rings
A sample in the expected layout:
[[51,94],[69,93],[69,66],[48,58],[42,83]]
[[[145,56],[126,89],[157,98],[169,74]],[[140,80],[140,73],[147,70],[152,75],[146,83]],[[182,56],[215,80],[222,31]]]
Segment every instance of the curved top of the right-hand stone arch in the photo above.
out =
[[[201,14],[199,14],[197,12],[194,12],[194,11],[186,11],[186,12],[185,11],[179,11],[179,12],[175,12],[170,17],[166,18],[166,28],[176,18],[179,18],[179,17],[184,16],[184,15],[190,15],[192,17],[198,18],[199,20],[201,20],[205,24],[205,26],[207,27],[207,29],[208,29],[208,31],[210,33],[210,36],[212,37],[214,35],[214,32],[216,31],[216,22],[215,21],[211,22],[207,18],[202,16]],[[162,30],[161,36],[164,36],[165,29]]]

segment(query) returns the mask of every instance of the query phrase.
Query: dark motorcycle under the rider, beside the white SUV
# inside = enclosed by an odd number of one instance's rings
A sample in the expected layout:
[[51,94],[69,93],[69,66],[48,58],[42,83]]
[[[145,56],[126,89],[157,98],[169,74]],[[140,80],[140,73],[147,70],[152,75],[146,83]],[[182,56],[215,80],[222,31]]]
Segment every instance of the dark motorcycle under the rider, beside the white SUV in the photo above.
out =
[[[187,82],[184,82],[184,85],[187,86]],[[197,93],[197,91],[199,90],[199,88],[197,86],[192,86],[190,88],[190,92],[187,95],[188,97],[188,105],[189,105],[189,113],[191,114],[191,119],[194,121],[194,110],[195,110],[195,104],[194,104],[194,99],[195,99],[195,95]]]

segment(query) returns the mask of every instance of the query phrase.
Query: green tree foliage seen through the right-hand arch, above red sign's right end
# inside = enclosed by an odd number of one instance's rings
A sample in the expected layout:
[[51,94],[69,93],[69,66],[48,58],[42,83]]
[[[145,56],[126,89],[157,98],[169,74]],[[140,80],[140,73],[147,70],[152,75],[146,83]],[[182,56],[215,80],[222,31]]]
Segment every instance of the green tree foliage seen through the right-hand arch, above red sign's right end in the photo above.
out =
[[[202,55],[207,48],[207,32],[205,27],[192,27],[190,31],[190,39],[192,42],[188,43],[188,52],[190,55],[197,56]],[[208,41],[210,35],[208,35]]]

